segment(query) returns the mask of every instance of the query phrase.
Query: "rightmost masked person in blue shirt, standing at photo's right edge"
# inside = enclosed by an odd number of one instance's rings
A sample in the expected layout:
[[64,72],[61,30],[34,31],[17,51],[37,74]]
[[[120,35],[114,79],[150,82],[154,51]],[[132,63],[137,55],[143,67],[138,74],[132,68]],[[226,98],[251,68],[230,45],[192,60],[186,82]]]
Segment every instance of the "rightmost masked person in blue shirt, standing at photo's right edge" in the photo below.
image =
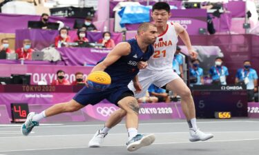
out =
[[258,75],[256,70],[251,68],[251,61],[244,61],[244,67],[236,72],[235,83],[243,83],[247,85],[248,101],[254,101],[254,93],[258,91]]

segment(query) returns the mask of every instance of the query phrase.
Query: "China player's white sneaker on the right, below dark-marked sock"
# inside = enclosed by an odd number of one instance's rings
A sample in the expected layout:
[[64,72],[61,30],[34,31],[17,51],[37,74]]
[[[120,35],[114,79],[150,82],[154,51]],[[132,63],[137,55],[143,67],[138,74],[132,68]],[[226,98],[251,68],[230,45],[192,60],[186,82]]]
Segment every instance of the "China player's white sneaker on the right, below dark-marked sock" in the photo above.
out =
[[191,141],[191,142],[207,141],[210,138],[213,138],[213,134],[205,134],[204,132],[201,132],[199,129],[196,131],[190,130],[189,141]]

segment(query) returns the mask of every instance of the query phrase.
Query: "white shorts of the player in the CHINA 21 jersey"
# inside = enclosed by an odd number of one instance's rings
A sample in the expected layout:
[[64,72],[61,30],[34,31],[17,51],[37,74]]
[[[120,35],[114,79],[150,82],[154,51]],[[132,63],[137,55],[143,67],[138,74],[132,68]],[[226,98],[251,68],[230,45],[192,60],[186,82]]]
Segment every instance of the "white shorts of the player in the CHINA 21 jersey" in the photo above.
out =
[[136,98],[140,98],[145,96],[148,87],[151,84],[156,85],[157,87],[163,87],[167,83],[180,78],[180,76],[173,72],[173,69],[166,69],[162,71],[154,71],[154,70],[140,70],[137,74],[140,85],[142,85],[142,91],[139,93],[135,92],[135,87],[133,86],[133,82],[128,84],[128,88],[132,90],[135,94]]

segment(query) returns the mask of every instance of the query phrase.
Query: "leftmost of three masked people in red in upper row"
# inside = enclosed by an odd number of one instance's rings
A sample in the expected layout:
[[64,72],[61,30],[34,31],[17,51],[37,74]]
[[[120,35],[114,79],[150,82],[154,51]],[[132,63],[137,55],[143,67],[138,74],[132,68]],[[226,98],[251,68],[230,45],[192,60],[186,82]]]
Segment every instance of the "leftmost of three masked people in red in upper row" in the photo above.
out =
[[68,29],[67,28],[61,28],[59,30],[59,35],[55,38],[55,47],[61,48],[61,47],[68,47],[68,42],[70,42],[70,36],[68,36]]

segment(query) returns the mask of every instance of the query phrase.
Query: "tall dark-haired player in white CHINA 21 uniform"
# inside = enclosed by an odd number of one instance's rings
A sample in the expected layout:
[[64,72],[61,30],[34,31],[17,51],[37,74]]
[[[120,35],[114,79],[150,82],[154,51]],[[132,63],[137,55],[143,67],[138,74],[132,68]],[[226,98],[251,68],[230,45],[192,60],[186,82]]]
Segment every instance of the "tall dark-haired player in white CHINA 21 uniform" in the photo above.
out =
[[[140,84],[142,85],[142,91],[135,93],[135,97],[140,98],[144,96],[146,90],[152,83],[157,87],[163,87],[166,90],[171,90],[180,95],[182,99],[182,111],[184,112],[189,125],[189,141],[206,141],[207,139],[212,138],[213,135],[204,134],[204,132],[201,132],[198,129],[195,118],[195,105],[193,97],[191,96],[191,91],[180,76],[173,72],[172,69],[173,55],[175,54],[176,44],[178,43],[178,36],[186,45],[192,59],[196,59],[198,53],[192,49],[189,34],[182,25],[168,22],[169,17],[171,17],[168,3],[155,3],[152,8],[151,16],[157,26],[159,36],[153,45],[155,52],[153,56],[151,56],[151,59],[148,60],[147,68],[140,70],[138,74]],[[139,65],[142,65],[142,63],[140,62]],[[133,83],[130,83],[128,87],[135,92]],[[88,146],[100,147],[111,127],[122,121],[125,114],[126,112],[122,109],[113,112],[110,118],[108,118],[108,121],[106,121],[104,128],[96,132],[95,136],[88,143]]]

